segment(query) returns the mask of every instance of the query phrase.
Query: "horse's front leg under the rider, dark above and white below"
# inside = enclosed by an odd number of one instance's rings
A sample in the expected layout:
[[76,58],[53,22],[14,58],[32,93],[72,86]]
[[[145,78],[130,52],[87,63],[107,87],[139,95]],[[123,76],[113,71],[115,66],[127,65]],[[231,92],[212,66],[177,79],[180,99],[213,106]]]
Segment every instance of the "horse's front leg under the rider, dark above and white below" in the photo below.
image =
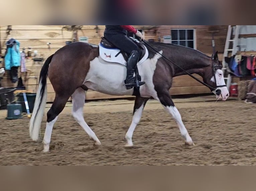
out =
[[143,111],[144,106],[145,106],[146,102],[148,101],[148,99],[149,98],[144,98],[144,97],[136,97],[136,99],[135,99],[132,123],[125,135],[125,139],[127,141],[125,146],[127,146],[127,147],[133,146],[132,135],[133,135],[133,132],[134,132],[137,124],[139,123],[139,121],[141,119],[142,111]]

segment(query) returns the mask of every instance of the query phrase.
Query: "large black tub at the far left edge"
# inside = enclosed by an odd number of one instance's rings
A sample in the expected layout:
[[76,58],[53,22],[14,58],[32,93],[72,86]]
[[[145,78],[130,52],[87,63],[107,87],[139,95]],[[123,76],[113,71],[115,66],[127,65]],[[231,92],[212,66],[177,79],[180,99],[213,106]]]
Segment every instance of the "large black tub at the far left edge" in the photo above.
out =
[[7,109],[9,103],[15,103],[14,91],[16,88],[0,89],[0,109]]

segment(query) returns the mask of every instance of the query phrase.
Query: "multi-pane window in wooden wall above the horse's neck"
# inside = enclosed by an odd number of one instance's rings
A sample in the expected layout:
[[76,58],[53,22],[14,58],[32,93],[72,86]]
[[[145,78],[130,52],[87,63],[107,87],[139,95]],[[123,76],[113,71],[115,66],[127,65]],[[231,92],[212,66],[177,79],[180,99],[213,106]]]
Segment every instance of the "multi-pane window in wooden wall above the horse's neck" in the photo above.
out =
[[195,49],[195,29],[171,29],[171,43]]

